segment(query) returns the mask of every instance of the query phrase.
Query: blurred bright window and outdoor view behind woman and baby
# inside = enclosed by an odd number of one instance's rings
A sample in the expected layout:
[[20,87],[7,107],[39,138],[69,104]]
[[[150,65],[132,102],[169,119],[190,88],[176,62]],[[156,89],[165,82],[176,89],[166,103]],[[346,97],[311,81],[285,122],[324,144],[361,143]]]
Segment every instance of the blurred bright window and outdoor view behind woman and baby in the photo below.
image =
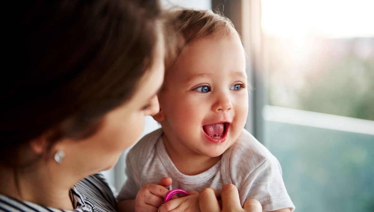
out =
[[[374,211],[374,1],[162,2],[232,19],[253,87],[246,129],[281,163],[295,211]],[[144,134],[159,128],[146,120]],[[123,160],[105,172],[117,190]]]

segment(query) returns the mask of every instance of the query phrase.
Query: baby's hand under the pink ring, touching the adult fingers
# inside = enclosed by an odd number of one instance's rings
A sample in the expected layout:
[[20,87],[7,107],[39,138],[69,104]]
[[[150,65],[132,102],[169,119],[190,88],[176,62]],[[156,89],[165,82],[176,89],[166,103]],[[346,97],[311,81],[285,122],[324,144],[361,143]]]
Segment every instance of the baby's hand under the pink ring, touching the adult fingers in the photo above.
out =
[[169,200],[160,207],[159,212],[199,212],[199,193],[196,191],[188,191],[188,193],[189,196]]

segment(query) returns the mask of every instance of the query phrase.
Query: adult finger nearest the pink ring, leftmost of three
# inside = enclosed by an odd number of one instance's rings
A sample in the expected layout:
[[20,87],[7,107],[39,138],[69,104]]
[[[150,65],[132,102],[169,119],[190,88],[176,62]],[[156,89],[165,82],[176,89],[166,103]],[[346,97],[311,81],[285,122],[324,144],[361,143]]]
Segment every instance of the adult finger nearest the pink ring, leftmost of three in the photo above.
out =
[[201,212],[220,212],[218,203],[218,191],[213,188],[205,188],[199,193],[199,207]]

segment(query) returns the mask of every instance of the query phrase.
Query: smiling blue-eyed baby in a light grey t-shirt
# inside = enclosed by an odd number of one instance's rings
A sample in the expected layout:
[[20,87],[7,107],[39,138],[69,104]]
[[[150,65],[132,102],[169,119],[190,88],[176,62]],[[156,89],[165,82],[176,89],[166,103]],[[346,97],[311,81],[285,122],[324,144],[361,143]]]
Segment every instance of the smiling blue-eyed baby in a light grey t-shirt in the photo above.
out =
[[[293,211],[278,160],[244,129],[246,57],[233,24],[210,10],[178,10],[171,20],[184,42],[158,96],[160,112],[153,118],[162,128],[128,153],[121,207],[156,212],[164,187],[220,191],[232,183],[242,205],[257,199],[264,211]],[[160,211],[199,211],[197,192]]]

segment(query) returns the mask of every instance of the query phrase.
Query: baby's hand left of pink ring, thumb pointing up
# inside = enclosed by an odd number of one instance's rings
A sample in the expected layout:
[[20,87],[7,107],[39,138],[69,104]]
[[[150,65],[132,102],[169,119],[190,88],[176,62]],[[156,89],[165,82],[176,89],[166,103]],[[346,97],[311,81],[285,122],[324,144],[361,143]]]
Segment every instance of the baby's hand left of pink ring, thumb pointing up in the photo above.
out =
[[167,187],[169,187],[170,184],[171,178],[162,178],[159,184],[144,185],[135,198],[135,211],[157,212],[166,194],[169,192]]

